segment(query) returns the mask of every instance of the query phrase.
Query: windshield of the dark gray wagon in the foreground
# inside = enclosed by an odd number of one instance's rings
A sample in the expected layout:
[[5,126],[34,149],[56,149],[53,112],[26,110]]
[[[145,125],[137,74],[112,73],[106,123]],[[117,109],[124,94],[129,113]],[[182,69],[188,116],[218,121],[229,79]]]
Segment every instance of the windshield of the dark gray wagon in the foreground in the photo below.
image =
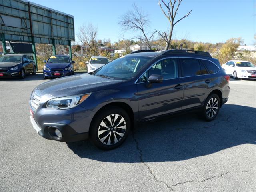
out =
[[153,57],[145,56],[122,56],[96,70],[94,75],[127,80],[135,76],[152,59]]

